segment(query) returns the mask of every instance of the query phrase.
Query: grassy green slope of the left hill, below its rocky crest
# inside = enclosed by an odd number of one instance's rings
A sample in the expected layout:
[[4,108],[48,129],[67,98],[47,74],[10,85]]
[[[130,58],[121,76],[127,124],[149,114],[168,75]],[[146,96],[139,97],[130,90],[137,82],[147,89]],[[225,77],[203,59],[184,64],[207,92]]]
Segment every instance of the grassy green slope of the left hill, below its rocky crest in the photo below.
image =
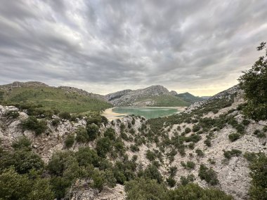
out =
[[6,105],[33,104],[41,105],[41,109],[57,109],[60,112],[73,113],[101,111],[112,107],[103,100],[47,86],[2,89],[0,92],[2,101]]

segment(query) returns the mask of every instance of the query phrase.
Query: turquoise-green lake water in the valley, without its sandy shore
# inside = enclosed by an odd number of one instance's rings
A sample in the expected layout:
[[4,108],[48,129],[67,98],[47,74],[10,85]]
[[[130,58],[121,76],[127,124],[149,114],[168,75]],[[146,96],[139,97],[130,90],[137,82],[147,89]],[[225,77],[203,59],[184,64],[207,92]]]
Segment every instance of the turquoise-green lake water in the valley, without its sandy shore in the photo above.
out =
[[174,107],[115,107],[112,112],[122,114],[122,116],[134,114],[136,116],[145,116],[146,119],[152,119],[176,114],[179,109]]

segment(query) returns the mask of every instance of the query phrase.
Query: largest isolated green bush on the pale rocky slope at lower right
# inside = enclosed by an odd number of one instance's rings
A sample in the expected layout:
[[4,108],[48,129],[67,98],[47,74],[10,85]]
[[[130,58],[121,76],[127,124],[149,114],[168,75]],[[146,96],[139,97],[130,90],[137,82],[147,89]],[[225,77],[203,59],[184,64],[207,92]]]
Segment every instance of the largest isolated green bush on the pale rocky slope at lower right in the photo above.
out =
[[210,185],[217,185],[219,183],[216,172],[212,168],[207,168],[204,164],[200,165],[198,176],[201,180],[206,180]]

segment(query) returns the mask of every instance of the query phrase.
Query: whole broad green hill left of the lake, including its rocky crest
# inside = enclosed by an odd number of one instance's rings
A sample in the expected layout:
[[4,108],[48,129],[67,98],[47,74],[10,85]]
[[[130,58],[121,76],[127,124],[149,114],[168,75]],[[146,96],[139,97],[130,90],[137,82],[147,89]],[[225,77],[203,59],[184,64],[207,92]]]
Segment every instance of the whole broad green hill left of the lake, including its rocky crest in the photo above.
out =
[[88,93],[78,88],[51,87],[40,82],[14,82],[0,86],[3,100],[8,105],[29,103],[42,105],[44,109],[65,112],[100,111],[112,107],[101,95]]

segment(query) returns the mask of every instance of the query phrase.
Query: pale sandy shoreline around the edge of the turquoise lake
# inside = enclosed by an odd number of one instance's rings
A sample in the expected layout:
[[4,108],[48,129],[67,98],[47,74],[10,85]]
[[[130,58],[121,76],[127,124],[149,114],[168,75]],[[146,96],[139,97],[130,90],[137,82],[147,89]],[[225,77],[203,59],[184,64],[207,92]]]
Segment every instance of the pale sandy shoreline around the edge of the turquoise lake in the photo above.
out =
[[[120,119],[126,115],[128,115],[128,113],[117,113],[117,112],[113,112],[112,109],[114,109],[116,107],[110,107],[108,109],[105,109],[103,111],[103,113],[101,113],[101,115],[105,116],[108,120],[113,120],[113,119]],[[177,109],[177,112],[183,112],[185,110],[185,107],[149,107],[149,108],[174,108]]]

